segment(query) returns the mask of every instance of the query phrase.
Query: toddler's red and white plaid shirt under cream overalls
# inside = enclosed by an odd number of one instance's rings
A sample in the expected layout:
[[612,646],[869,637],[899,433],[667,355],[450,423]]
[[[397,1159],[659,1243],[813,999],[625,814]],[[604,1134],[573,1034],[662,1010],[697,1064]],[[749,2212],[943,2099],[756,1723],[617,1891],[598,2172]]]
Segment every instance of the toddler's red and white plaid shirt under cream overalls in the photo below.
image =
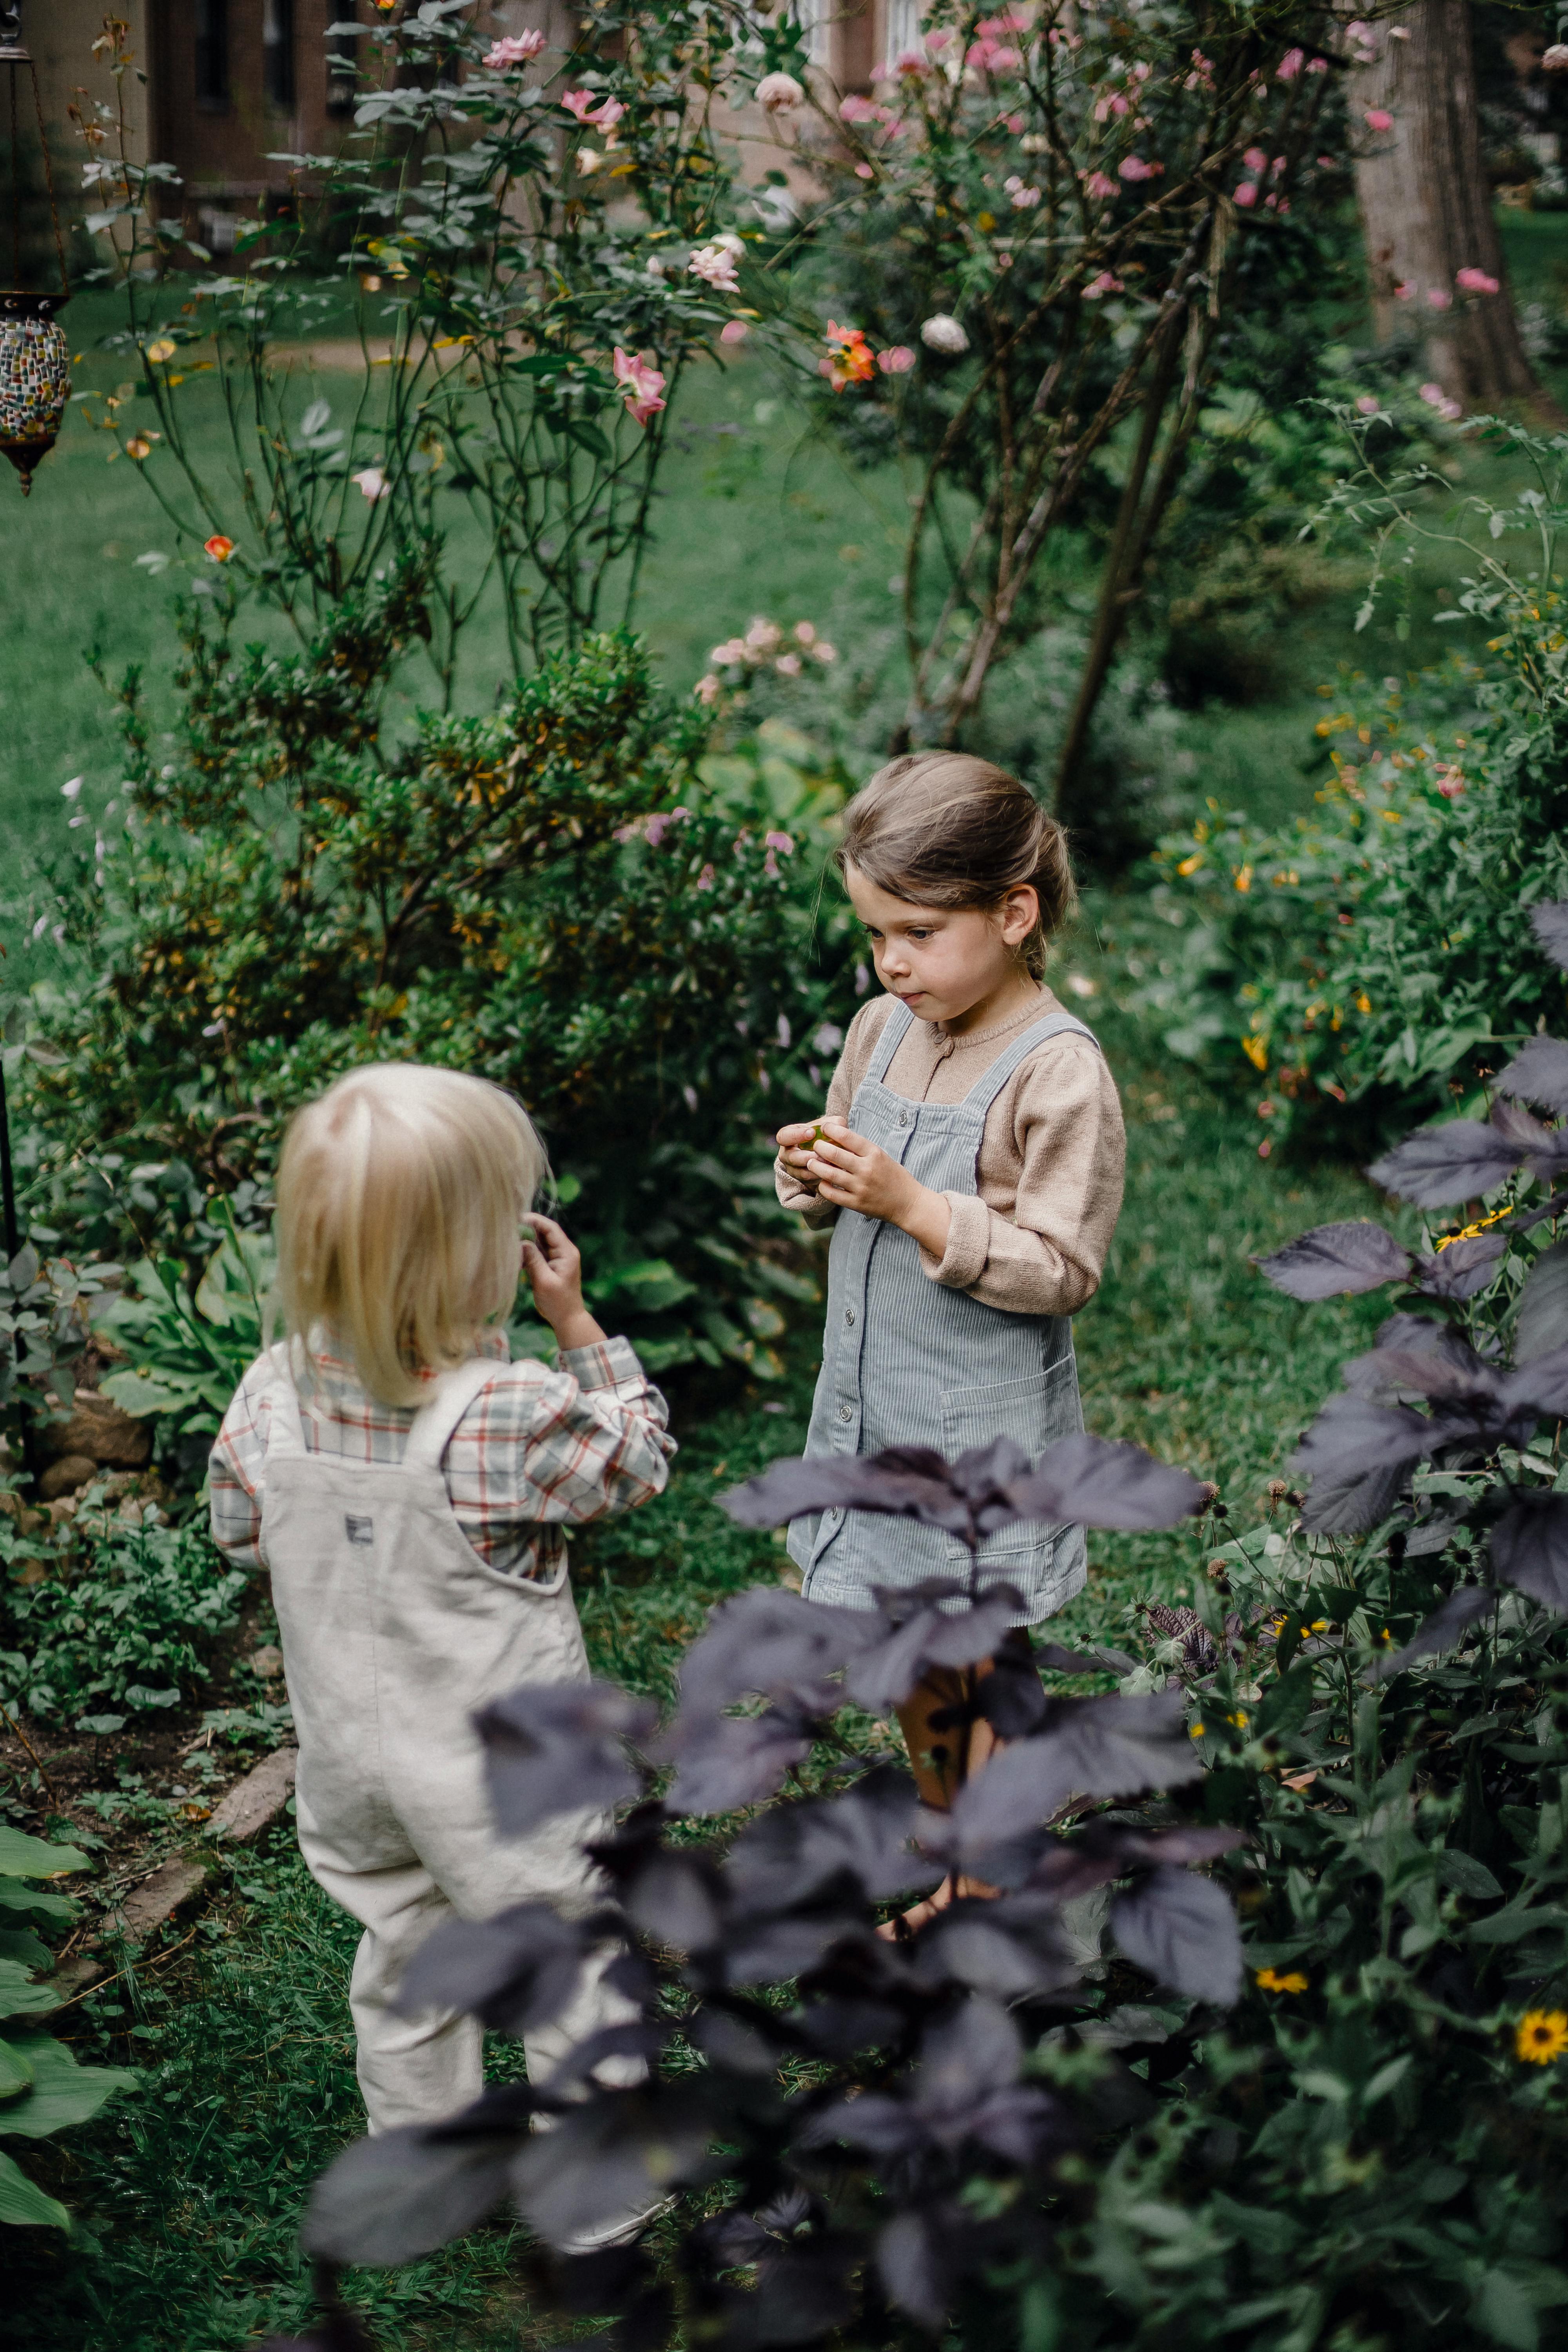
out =
[[[548,1578],[562,1557],[564,1526],[632,1510],[663,1491],[675,1439],[668,1406],[630,1341],[567,1348],[557,1364],[510,1362],[503,1334],[487,1334],[496,1357],[442,1456],[451,1510],[487,1566]],[[320,1378],[301,1397],[306,1446],[357,1463],[400,1463],[414,1406],[378,1404],[353,1369],[317,1355]],[[242,1566],[259,1564],[261,1496],[273,1418],[270,1357],[259,1357],[223,1414],[212,1449],[212,1538]]]

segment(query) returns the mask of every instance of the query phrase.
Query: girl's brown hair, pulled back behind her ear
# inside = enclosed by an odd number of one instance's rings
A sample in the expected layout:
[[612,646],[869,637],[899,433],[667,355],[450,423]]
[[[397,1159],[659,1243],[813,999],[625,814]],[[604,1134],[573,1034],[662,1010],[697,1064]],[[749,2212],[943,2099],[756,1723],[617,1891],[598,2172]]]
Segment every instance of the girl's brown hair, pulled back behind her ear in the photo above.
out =
[[1037,978],[1046,941],[1077,906],[1058,821],[1018,776],[959,750],[914,750],[879,767],[844,809],[837,861],[912,906],[992,908],[1027,882],[1039,922],[1020,953]]

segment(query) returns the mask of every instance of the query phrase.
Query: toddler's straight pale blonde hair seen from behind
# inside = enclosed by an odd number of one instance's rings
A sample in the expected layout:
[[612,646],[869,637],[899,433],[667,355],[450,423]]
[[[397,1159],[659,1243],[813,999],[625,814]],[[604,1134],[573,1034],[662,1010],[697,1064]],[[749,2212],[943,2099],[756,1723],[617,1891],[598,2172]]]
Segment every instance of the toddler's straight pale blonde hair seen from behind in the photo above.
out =
[[550,1174],[522,1103],[416,1061],[350,1070],[289,1122],[277,1305],[292,1359],[317,1331],[383,1404],[475,1355],[517,1291],[517,1228]]

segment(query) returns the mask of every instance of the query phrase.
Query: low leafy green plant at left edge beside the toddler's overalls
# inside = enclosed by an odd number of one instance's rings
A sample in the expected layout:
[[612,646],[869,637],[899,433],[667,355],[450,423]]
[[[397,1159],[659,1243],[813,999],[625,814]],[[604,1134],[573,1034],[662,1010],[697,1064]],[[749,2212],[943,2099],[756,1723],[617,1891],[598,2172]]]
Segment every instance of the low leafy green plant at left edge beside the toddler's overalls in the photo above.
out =
[[45,1719],[179,1705],[209,1679],[249,1588],[202,1526],[169,1526],[146,1503],[122,1517],[94,1489],[63,1541],[0,1519],[0,1705]]

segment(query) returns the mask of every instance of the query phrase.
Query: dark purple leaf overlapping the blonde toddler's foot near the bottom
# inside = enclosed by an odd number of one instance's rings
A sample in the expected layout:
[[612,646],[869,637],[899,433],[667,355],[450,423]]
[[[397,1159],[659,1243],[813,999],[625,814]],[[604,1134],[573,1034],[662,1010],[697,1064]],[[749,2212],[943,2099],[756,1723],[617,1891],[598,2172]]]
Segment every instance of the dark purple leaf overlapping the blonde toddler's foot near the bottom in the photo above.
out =
[[[512,2192],[548,2246],[630,2225],[710,2171],[710,2126],[689,2084],[597,2091],[512,2159]],[[371,2143],[378,2145],[378,2143]]]

